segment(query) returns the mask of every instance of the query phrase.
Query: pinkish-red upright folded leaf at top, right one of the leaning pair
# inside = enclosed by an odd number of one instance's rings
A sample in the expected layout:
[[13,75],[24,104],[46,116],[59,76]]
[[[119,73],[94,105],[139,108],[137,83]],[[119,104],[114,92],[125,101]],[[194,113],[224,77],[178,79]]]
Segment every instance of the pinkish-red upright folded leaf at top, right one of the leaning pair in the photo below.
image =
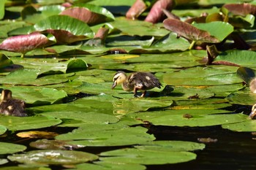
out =
[[153,7],[151,8],[148,16],[146,17],[146,21],[150,23],[157,23],[165,17],[165,13],[162,9],[173,9],[175,2],[173,0],[159,0],[157,1]]

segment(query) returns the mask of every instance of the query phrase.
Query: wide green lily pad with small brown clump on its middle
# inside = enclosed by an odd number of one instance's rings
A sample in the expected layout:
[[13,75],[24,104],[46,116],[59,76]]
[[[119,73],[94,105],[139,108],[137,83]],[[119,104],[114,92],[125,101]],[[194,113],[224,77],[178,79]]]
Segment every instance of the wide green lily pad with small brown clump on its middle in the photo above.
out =
[[[214,112],[218,114],[213,114]],[[221,112],[225,114],[219,114]],[[143,121],[149,121],[154,125],[191,126],[191,127],[239,123],[239,122],[244,122],[248,117],[243,114],[232,114],[232,113],[227,114],[227,111],[223,111],[223,110],[207,110],[207,109],[181,109],[181,110],[172,109],[172,110],[165,110],[165,111],[129,114],[127,116],[140,119]]]

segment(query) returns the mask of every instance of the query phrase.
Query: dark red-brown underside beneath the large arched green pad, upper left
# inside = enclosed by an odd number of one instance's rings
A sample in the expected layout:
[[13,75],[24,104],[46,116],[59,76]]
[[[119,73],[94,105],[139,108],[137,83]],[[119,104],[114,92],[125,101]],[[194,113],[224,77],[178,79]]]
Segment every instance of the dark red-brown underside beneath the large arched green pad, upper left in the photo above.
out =
[[86,39],[86,36],[75,36],[71,34],[69,31],[64,31],[64,30],[53,30],[53,29],[48,29],[46,30],[47,33],[53,34],[55,36],[56,41],[58,44],[69,44],[72,42],[78,42],[83,39]]

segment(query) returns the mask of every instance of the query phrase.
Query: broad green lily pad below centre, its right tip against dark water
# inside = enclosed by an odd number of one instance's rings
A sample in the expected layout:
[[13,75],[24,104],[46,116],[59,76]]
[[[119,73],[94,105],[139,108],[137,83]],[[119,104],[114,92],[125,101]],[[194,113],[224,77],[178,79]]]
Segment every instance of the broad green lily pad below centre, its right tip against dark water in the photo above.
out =
[[[72,131],[72,133],[56,136],[59,140],[74,140],[69,144],[80,146],[122,146],[140,144],[153,141],[153,135],[146,134],[148,129],[142,127],[129,127],[122,124],[110,125],[83,125]],[[132,140],[131,140],[132,139]]]

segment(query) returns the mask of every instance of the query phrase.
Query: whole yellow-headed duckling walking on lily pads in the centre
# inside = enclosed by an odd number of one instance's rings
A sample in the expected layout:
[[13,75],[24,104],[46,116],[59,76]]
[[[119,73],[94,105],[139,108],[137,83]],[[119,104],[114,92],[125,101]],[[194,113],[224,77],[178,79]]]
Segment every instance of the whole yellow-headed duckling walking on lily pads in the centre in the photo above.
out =
[[161,88],[162,86],[157,77],[150,72],[135,72],[130,74],[129,77],[127,77],[125,72],[116,72],[113,77],[112,89],[119,84],[121,84],[122,88],[126,91],[133,90],[135,96],[137,96],[137,90],[140,90],[142,92],[140,97],[146,96],[146,90]]

